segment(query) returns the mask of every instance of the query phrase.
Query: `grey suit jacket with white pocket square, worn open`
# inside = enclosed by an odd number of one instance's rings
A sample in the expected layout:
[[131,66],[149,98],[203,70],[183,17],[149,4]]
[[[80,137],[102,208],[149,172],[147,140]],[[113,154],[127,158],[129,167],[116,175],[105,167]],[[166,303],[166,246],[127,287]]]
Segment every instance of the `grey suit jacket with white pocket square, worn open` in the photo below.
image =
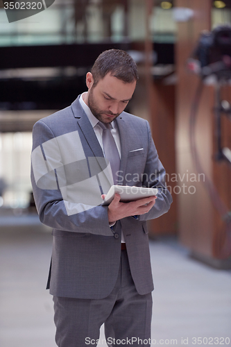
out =
[[[119,271],[122,228],[136,289],[139,294],[147,294],[153,290],[153,279],[146,221],[167,212],[172,201],[165,188],[165,171],[150,127],[146,120],[127,112],[117,118],[121,139],[120,184],[159,187],[159,193],[148,213],[137,219],[121,219],[110,228],[108,207],[97,203],[101,202],[101,193],[106,194],[110,187],[110,179],[99,183],[102,172],[107,176],[107,164],[103,163],[101,146],[78,99],[64,110],[37,121],[33,127],[33,194],[40,221],[53,228],[50,293],[72,298],[108,296]],[[94,165],[93,170],[92,160],[99,165]],[[82,177],[86,170],[87,177]],[[78,172],[78,177],[82,175],[80,182],[75,181],[74,172]],[[91,180],[97,189],[93,186],[88,189],[87,182]],[[83,194],[75,200],[81,189]],[[89,202],[89,196],[94,203]]]

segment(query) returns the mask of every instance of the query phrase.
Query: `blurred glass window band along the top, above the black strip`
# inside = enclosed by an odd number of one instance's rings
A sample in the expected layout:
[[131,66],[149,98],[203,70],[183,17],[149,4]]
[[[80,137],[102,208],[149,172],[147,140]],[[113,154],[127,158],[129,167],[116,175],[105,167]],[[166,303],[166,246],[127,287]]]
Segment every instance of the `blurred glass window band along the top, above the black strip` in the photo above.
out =
[[[174,42],[173,1],[157,0],[155,5],[153,40]],[[145,23],[146,3],[140,0],[55,0],[37,15],[12,23],[0,8],[0,46],[139,41],[146,35]]]

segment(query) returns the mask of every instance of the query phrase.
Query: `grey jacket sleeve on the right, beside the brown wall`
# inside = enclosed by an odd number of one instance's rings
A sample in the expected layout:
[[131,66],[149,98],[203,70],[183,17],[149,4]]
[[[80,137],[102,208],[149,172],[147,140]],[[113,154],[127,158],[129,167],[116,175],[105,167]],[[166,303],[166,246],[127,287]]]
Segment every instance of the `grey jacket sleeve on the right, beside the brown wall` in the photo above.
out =
[[158,157],[153,137],[151,135],[150,126],[148,122],[146,124],[148,131],[148,155],[142,185],[143,187],[158,188],[159,192],[153,208],[151,208],[148,213],[140,215],[139,221],[148,221],[149,219],[155,219],[162,216],[162,214],[169,211],[170,205],[173,201],[169,190],[166,189],[165,170]]

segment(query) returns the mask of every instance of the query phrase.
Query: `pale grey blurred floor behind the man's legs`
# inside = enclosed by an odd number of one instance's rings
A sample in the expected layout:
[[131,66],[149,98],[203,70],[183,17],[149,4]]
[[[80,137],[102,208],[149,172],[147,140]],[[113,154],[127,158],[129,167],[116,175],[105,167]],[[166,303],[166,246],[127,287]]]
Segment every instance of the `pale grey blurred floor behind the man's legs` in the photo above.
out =
[[[51,234],[36,218],[1,217],[0,224],[0,346],[55,347],[53,301],[44,289]],[[191,260],[175,243],[150,247],[152,346],[231,346],[231,272]],[[99,346],[106,346],[103,328]]]

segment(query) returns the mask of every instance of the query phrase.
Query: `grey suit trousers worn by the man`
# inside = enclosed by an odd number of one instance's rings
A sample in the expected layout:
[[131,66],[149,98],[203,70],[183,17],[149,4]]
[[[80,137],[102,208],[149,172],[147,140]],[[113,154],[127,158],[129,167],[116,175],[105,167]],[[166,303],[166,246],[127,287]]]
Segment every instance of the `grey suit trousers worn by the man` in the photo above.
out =
[[[126,251],[121,251],[119,276],[109,296],[100,300],[54,296],[53,302],[58,347],[97,346],[103,323],[109,347],[150,346],[152,296],[137,293]],[[100,346],[102,341],[98,342]]]

